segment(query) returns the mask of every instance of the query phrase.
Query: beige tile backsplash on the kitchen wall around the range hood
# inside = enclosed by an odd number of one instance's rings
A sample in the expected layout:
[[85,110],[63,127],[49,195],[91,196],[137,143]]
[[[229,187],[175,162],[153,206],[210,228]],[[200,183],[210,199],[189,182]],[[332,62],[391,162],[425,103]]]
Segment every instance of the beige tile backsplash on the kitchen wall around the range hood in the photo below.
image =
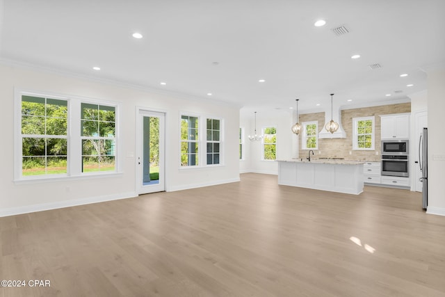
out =
[[[312,158],[344,158],[346,160],[380,161],[380,116],[392,113],[410,113],[411,103],[372,106],[361,109],[344,109],[341,111],[341,126],[346,138],[318,139],[318,150]],[[353,118],[375,116],[375,150],[353,150]],[[299,116],[298,122],[318,121],[318,131],[325,129],[325,113],[305,113]],[[308,150],[301,150],[300,158],[306,158]],[[375,154],[378,152],[378,154]]]

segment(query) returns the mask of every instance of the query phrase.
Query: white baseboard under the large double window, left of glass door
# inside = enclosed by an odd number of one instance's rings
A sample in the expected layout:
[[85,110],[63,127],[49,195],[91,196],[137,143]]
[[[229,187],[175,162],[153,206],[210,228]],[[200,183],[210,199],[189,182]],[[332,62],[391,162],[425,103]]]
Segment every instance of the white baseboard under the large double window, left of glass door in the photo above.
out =
[[134,198],[137,196],[138,196],[138,194],[136,194],[134,192],[130,192],[130,193],[120,193],[120,194],[116,194],[116,195],[106,195],[106,196],[82,198],[82,199],[67,200],[67,201],[60,201],[60,202],[33,204],[33,205],[27,205],[24,207],[10,207],[7,209],[1,209],[0,217],[15,216],[17,214],[29,214],[30,212],[45,211],[45,210],[50,210],[50,209],[60,209],[60,208],[64,208],[64,207],[75,207],[75,206],[84,205],[84,204],[106,202],[106,201],[111,201],[111,200]]

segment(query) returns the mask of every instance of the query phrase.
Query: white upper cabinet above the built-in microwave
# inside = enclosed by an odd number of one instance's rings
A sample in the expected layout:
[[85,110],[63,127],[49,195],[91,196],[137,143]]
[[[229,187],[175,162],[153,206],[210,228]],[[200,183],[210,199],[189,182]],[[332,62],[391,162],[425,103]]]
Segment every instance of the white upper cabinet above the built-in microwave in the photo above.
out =
[[410,138],[410,113],[380,115],[380,118],[382,140]]

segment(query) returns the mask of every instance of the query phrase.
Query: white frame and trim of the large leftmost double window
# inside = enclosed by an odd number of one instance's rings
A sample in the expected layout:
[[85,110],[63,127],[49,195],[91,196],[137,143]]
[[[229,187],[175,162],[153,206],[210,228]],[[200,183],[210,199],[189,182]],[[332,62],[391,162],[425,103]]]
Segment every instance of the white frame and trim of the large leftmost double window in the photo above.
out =
[[[22,153],[22,96],[65,100],[67,102],[67,172],[50,175],[23,175]],[[113,106],[115,109],[115,168],[98,172],[81,172],[81,104],[90,103]],[[79,179],[84,177],[109,177],[122,175],[120,158],[120,103],[111,100],[91,99],[75,95],[42,92],[15,88],[14,90],[14,182],[51,182],[58,179]]]

